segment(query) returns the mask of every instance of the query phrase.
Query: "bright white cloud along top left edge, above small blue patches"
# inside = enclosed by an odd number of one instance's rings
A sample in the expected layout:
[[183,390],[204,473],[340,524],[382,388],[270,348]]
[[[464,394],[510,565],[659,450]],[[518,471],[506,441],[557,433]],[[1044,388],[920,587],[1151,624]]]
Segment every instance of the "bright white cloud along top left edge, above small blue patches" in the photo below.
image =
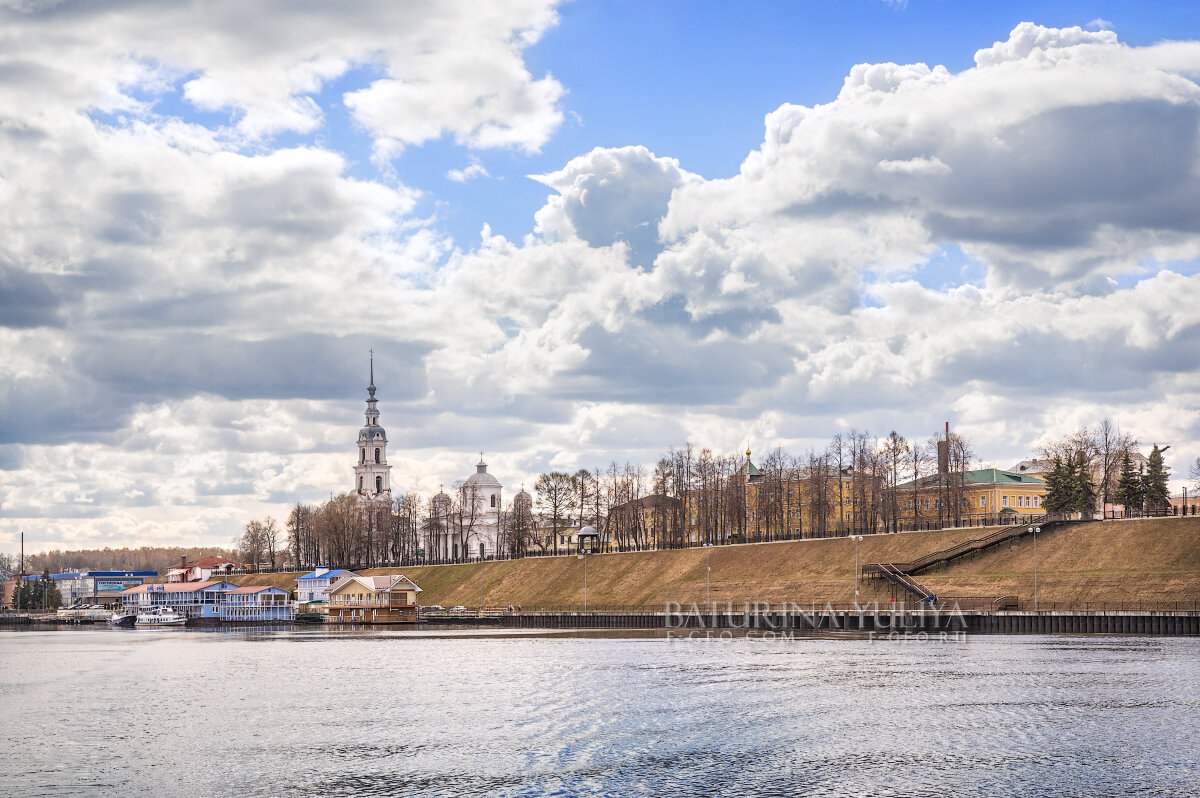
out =
[[366,68],[378,78],[344,102],[384,152],[448,133],[536,149],[562,121],[563,90],[534,78],[522,52],[554,22],[546,0],[17,4],[0,8],[0,80],[12,108],[36,97],[131,113],[178,83],[188,103],[229,113],[254,139],[317,128],[313,95]]

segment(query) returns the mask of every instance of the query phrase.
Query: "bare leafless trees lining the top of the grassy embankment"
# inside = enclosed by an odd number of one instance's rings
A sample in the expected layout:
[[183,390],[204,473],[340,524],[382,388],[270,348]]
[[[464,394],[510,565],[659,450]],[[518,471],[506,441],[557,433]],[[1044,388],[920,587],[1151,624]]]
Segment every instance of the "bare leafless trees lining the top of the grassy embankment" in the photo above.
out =
[[[1085,451],[1109,502],[1121,458],[1135,444],[1105,419],[1040,454]],[[586,524],[610,551],[960,526],[967,473],[978,466],[970,440],[954,432],[922,440],[850,430],[802,454],[776,448],[756,462],[749,455],[685,444],[653,470],[612,462],[605,470],[548,472],[533,496],[521,491],[494,509],[467,482],[430,499],[362,502],[348,493],[295,505],[282,534],[270,518],[251,522],[238,544],[259,564],[371,568],[476,559],[484,542],[487,557],[571,553]]]

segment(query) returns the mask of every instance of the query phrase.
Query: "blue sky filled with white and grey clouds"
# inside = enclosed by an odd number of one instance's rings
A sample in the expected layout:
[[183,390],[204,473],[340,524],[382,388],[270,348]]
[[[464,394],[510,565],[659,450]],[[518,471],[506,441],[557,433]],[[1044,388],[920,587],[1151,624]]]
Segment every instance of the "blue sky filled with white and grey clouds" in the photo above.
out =
[[1192,2],[0,0],[0,550],[1111,418],[1200,456]]

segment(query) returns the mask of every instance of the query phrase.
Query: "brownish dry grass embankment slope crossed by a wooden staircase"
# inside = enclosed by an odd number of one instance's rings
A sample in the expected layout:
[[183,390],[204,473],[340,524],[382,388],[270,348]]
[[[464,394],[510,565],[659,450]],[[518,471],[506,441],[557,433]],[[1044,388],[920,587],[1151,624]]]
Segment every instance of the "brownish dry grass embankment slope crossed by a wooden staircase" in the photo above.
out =
[[[905,562],[986,534],[947,529],[868,535],[859,563]],[[683,551],[595,554],[587,560],[588,607],[661,607],[704,601],[706,558],[712,558],[714,601],[833,601],[854,598],[854,544],[845,538]],[[373,569],[388,574],[397,569]],[[575,557],[500,560],[484,565],[400,569],[424,588],[421,604],[524,610],[583,604],[583,560]],[[240,584],[295,589],[298,574],[247,575]],[[938,595],[1016,595],[1033,604],[1033,541],[1003,544],[917,575]],[[887,601],[886,583],[863,580],[862,601]],[[1090,523],[1038,536],[1040,604],[1200,601],[1200,518]],[[901,598],[901,596],[898,596]]]

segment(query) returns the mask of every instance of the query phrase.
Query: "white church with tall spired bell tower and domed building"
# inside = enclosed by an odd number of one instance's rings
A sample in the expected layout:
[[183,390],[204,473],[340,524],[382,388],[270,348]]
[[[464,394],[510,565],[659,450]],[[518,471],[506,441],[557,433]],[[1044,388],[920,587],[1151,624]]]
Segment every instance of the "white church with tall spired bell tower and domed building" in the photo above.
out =
[[[372,352],[366,424],[359,430],[359,457],[354,466],[354,482],[355,492],[361,500],[390,502],[391,466],[388,464],[388,433],[379,426],[378,400],[374,394],[374,352]],[[498,552],[500,520],[504,512],[503,488],[500,481],[487,473],[487,463],[480,452],[475,473],[463,480],[463,498],[469,499],[470,504],[456,508],[445,491],[433,497],[432,517],[421,541],[426,556],[434,562],[494,557]]]

